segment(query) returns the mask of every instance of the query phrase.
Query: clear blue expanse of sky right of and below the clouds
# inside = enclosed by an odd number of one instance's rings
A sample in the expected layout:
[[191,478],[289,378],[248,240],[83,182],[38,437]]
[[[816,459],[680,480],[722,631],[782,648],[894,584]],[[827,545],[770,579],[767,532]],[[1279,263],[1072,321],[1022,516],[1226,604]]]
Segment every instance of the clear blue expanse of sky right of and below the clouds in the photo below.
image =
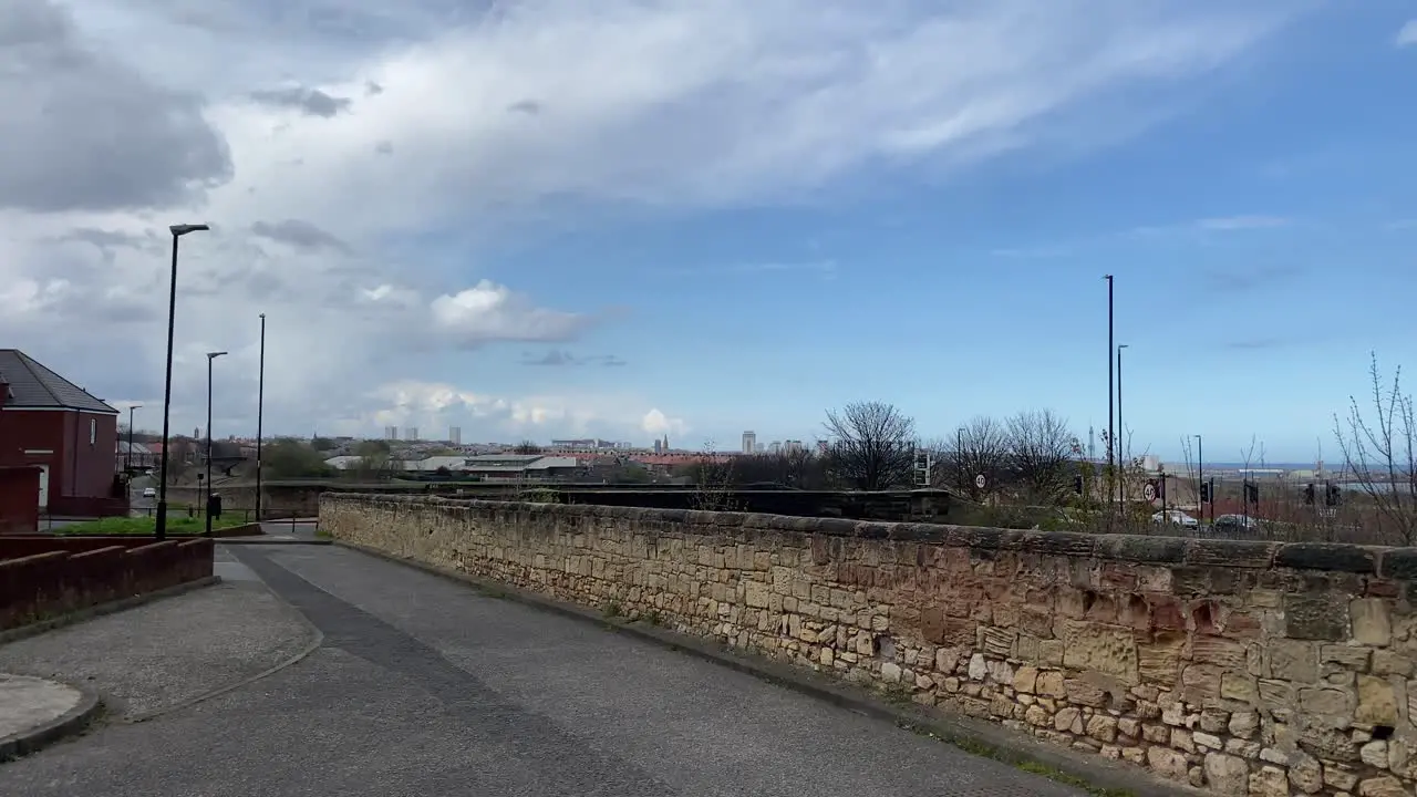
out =
[[611,211],[519,240],[493,278],[553,306],[623,306],[581,347],[628,364],[446,362],[536,389],[653,384],[703,418],[690,447],[812,438],[852,400],[896,403],[927,435],[1037,407],[1085,431],[1107,423],[1110,272],[1134,445],[1176,458],[1204,434],[1237,458],[1258,435],[1271,461],[1333,458],[1332,414],[1366,389],[1369,350],[1417,362],[1417,47],[1394,45],[1408,6],[1295,20],[1098,150],[945,182],[866,169],[796,206]]

